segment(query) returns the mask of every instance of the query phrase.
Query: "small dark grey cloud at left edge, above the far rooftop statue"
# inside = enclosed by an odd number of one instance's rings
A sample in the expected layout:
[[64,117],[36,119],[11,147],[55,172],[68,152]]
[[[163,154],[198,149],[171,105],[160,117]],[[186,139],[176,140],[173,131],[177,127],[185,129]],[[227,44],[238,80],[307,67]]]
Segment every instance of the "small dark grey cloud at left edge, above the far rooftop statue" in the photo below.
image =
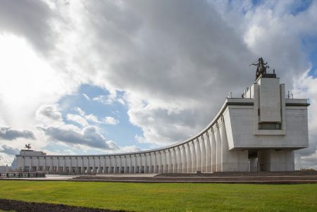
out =
[[0,127],[0,139],[13,140],[19,137],[35,139],[35,135],[29,130],[15,130],[11,127]]

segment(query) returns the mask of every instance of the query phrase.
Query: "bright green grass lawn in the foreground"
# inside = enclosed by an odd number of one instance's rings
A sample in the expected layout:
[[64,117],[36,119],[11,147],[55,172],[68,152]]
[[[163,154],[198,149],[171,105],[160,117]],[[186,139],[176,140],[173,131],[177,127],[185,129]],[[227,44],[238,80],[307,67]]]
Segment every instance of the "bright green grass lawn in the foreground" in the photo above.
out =
[[317,184],[0,180],[0,198],[127,211],[317,211]]

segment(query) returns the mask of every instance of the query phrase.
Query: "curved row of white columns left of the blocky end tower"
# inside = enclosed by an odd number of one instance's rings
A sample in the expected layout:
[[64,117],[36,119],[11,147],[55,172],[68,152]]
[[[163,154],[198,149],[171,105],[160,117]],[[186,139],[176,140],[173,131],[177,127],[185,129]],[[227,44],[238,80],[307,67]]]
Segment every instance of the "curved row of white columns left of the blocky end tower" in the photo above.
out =
[[171,146],[124,154],[23,156],[22,170],[65,174],[211,173],[221,171],[221,148],[228,149],[226,145],[224,118],[218,113],[208,127],[197,135]]

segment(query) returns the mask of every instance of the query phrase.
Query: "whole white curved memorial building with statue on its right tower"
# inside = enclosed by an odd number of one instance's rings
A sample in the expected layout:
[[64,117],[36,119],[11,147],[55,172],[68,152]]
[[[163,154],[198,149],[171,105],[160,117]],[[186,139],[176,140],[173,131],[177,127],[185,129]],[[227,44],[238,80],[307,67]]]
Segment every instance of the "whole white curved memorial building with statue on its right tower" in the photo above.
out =
[[17,168],[68,175],[294,170],[294,150],[309,145],[308,100],[285,96],[285,85],[275,73],[266,73],[263,60],[253,65],[258,66],[257,78],[247,92],[241,98],[228,96],[211,123],[183,142],[124,154],[46,155],[21,150]]

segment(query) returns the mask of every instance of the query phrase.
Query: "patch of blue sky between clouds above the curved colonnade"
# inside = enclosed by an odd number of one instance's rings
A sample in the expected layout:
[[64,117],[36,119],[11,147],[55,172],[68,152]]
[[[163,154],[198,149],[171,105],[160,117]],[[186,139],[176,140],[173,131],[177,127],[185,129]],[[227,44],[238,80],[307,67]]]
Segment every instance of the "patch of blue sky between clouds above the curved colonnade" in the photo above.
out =
[[107,140],[116,142],[118,146],[136,145],[141,149],[149,149],[150,144],[139,144],[135,139],[135,135],[143,136],[142,130],[130,123],[128,116],[128,106],[123,100],[124,92],[116,92],[116,98],[106,89],[92,85],[81,85],[73,95],[63,96],[58,101],[61,107],[64,122],[77,125],[78,123],[67,120],[67,114],[79,114],[75,108],[81,108],[86,115],[93,114],[98,120],[105,117],[112,117],[118,120],[115,125],[98,123],[99,133],[104,135]]

